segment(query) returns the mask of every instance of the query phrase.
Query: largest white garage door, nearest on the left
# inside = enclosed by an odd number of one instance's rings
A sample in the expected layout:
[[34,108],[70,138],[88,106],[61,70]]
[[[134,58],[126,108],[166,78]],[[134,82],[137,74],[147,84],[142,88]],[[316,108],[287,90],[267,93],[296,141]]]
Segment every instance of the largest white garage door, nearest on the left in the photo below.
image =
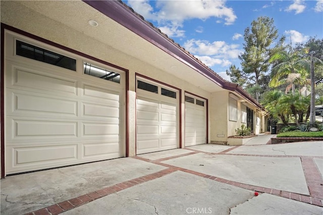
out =
[[124,156],[124,74],[6,33],[6,174]]

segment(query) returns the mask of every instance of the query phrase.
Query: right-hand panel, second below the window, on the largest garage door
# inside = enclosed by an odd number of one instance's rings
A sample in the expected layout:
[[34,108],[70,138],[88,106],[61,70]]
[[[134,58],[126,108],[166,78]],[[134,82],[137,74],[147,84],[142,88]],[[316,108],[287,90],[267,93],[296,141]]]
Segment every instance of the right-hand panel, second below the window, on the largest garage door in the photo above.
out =
[[119,107],[83,103],[83,116],[107,117],[119,120]]

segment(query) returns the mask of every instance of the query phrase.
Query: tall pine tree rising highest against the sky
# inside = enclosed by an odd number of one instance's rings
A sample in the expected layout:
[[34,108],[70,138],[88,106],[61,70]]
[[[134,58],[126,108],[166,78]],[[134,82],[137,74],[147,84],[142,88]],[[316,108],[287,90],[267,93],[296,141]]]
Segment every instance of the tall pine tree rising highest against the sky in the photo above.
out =
[[[270,67],[271,55],[282,48],[285,37],[278,39],[278,30],[274,26],[274,20],[268,17],[258,17],[252,21],[251,27],[244,31],[244,53],[239,55],[242,71],[240,76],[248,80],[251,86],[260,86],[261,79],[266,79],[266,73]],[[273,47],[273,44],[276,46]],[[260,86],[266,88],[267,85]],[[253,89],[255,90],[255,89]],[[256,100],[259,101],[260,89],[256,89]]]

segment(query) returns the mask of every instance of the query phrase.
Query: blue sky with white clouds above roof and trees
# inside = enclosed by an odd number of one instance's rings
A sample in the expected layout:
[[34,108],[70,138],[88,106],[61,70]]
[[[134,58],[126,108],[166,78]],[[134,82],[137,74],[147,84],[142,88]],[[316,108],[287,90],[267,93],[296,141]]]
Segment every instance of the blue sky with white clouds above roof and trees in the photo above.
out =
[[[286,42],[323,37],[319,1],[145,1],[125,3],[225,79],[231,64],[241,68],[243,34],[259,16],[274,19]],[[229,80],[229,79],[228,79]]]

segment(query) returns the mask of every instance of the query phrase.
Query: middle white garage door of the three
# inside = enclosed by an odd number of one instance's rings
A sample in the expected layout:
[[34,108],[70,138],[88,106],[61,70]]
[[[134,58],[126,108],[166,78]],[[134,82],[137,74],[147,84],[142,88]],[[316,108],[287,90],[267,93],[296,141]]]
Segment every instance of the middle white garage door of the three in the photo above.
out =
[[137,80],[137,154],[179,146],[179,93],[147,80]]

